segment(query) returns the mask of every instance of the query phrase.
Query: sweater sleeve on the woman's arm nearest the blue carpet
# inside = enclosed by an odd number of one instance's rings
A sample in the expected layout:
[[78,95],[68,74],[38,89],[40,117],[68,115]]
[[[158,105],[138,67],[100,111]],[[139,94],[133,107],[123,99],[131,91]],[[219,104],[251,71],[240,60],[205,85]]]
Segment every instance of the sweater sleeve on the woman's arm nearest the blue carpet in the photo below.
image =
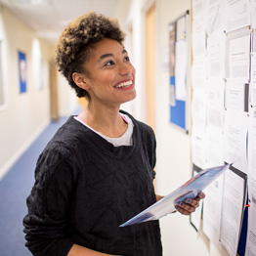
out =
[[64,256],[73,245],[66,232],[73,173],[67,149],[45,149],[35,170],[23,219],[26,246],[35,256]]

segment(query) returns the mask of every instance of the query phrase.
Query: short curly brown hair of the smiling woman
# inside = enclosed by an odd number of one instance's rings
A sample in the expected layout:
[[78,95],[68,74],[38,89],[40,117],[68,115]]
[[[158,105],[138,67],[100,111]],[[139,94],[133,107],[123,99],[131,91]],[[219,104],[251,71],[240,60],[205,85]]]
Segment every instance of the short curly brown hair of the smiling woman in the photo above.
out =
[[123,45],[125,34],[117,20],[90,12],[71,21],[57,42],[56,61],[59,71],[64,74],[78,98],[86,97],[90,100],[90,95],[74,83],[72,74],[73,72],[86,73],[83,64],[89,60],[95,44],[104,38],[116,40]]

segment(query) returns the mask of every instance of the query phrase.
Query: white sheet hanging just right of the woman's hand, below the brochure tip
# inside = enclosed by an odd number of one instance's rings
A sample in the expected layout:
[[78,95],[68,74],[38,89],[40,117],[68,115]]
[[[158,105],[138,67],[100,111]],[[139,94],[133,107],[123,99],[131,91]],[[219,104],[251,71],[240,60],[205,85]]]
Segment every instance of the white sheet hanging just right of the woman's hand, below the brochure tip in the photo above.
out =
[[203,232],[217,246],[220,244],[223,183],[224,175],[221,175],[204,190],[207,196],[203,199]]

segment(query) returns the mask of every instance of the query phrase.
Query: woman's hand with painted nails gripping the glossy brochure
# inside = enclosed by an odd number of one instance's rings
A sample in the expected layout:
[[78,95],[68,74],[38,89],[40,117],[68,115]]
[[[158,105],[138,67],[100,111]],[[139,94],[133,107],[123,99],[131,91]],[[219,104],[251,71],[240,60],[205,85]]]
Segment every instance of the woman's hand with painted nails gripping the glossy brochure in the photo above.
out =
[[204,192],[199,192],[194,199],[187,198],[185,202],[179,202],[177,205],[175,205],[175,208],[183,215],[191,215],[192,212],[194,212],[199,206],[199,201],[204,197]]

